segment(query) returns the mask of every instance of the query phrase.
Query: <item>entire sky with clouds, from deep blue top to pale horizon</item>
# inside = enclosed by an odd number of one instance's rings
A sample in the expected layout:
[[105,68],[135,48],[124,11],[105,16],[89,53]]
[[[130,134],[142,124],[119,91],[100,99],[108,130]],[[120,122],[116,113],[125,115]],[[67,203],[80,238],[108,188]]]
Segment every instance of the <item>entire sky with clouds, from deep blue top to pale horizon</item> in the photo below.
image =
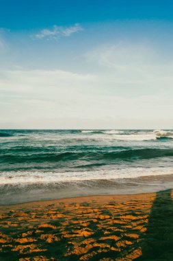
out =
[[173,128],[172,10],[0,0],[0,128]]

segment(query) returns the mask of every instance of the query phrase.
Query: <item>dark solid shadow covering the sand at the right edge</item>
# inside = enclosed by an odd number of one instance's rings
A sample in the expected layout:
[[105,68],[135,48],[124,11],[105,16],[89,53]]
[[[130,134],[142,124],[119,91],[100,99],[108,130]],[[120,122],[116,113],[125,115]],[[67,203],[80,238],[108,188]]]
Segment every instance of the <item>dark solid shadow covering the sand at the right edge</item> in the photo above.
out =
[[172,190],[157,192],[153,202],[142,256],[137,260],[173,261],[173,201]]

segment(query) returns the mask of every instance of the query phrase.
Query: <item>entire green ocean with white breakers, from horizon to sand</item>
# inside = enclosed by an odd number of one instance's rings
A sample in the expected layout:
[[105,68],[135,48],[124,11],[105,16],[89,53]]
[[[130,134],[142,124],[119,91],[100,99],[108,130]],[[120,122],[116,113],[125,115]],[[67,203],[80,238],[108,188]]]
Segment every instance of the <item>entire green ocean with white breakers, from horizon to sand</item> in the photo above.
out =
[[153,130],[1,130],[0,204],[172,188],[173,137]]

